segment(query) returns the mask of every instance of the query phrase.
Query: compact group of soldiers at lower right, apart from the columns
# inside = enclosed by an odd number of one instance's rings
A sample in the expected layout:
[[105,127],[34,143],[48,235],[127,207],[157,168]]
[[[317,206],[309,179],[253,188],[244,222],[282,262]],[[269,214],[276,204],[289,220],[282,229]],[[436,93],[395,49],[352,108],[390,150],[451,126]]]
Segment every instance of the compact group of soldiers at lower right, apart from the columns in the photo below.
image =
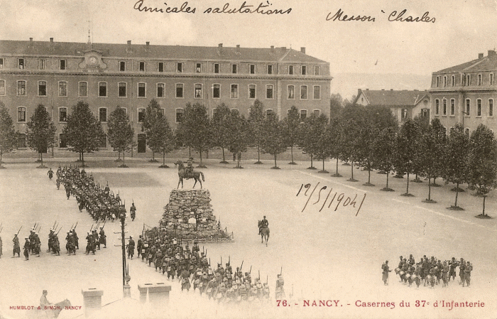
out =
[[[469,261],[464,261],[463,258],[460,261],[457,261],[455,257],[452,257],[451,260],[441,261],[434,256],[428,259],[425,255],[417,263],[412,254],[409,259],[403,258],[403,256],[399,258],[395,274],[400,276],[400,282],[404,285],[411,286],[414,282],[416,288],[419,288],[421,283],[423,286],[434,288],[435,284],[438,285],[442,281],[442,287],[448,287],[451,277],[452,281],[456,279],[457,267],[459,267],[459,285],[469,287],[471,283],[473,265]],[[381,266],[381,269],[383,270],[383,283],[388,285],[388,273],[391,272],[388,260]]]

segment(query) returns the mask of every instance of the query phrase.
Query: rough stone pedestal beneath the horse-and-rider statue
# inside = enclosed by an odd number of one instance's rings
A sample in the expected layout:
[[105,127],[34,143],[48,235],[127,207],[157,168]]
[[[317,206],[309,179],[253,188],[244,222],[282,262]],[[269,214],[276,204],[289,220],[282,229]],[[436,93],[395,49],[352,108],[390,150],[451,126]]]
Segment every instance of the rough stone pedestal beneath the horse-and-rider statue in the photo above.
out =
[[218,228],[209,190],[172,190],[160,227],[181,239],[231,239]]

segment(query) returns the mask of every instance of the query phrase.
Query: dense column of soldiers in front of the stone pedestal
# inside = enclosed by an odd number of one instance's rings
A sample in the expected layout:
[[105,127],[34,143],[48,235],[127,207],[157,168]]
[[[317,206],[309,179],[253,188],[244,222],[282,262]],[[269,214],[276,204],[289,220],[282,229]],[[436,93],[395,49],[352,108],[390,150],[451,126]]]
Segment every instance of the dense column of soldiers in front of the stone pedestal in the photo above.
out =
[[[130,242],[133,239],[130,238]],[[135,243],[130,243],[127,247],[129,258],[133,257],[130,252],[134,249]],[[162,271],[167,274],[168,279],[175,279],[181,283],[181,290],[190,291],[191,286],[195,291],[197,288],[200,294],[206,294],[209,299],[214,299],[218,303],[239,303],[241,301],[263,302],[269,300],[268,281],[261,281],[258,278],[251,278],[251,271],[245,273],[241,266],[233,271],[230,261],[225,266],[217,264],[217,268],[211,267],[210,260],[207,259],[207,250],[200,252],[198,241],[193,242],[190,249],[188,243],[183,247],[181,239],[168,236],[165,229],[148,229],[139,236],[136,243],[138,257],[154,266],[155,271]],[[202,249],[203,250],[203,249]],[[276,298],[283,298],[284,281],[281,274],[278,274],[276,282]]]

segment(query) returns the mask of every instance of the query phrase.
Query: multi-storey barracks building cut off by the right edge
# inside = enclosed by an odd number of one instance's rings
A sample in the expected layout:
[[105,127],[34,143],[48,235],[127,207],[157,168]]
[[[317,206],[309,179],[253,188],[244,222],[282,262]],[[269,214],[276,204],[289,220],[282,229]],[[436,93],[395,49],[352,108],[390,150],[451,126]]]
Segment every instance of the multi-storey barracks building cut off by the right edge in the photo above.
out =
[[485,124],[494,130],[493,105],[497,101],[497,54],[479,53],[476,60],[432,73],[432,119],[439,119],[447,132],[455,124],[471,134]]

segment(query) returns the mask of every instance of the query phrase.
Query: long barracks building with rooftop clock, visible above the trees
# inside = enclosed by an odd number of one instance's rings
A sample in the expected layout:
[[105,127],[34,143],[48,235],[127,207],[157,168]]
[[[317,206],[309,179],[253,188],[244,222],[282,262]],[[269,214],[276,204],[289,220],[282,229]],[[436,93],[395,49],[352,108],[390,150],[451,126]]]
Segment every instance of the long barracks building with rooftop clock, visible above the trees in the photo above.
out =
[[[60,148],[67,147],[62,129],[78,101],[89,104],[104,131],[110,112],[117,105],[126,109],[138,152],[144,152],[141,122],[151,99],[173,127],[187,103],[204,104],[209,116],[222,103],[247,116],[256,99],[280,118],[294,105],[302,118],[312,112],[329,116],[331,80],[329,63],[305,48],[0,40],[0,101],[21,134],[43,104],[57,126]],[[23,138],[19,146],[26,147]]]

